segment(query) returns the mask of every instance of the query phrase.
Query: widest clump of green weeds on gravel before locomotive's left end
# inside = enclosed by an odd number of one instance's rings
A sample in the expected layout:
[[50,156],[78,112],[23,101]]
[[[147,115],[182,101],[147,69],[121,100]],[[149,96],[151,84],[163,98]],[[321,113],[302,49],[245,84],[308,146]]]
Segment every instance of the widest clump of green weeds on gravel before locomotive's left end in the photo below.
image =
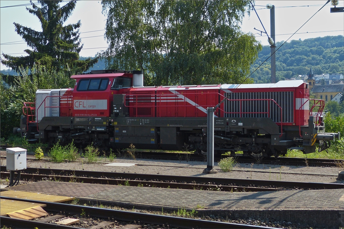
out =
[[78,157],[78,150],[73,142],[67,146],[61,146],[60,142],[57,142],[49,151],[48,156],[54,162],[63,162],[64,160],[75,161]]

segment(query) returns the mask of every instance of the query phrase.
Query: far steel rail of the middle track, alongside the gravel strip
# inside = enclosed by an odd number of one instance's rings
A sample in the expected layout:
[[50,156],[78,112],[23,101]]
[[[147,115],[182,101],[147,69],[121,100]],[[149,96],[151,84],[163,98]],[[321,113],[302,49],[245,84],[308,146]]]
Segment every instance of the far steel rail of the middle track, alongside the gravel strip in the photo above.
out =
[[[6,171],[6,166],[0,167],[1,171]],[[270,181],[270,180],[250,180],[250,179],[231,179],[231,178],[209,178],[196,176],[173,176],[158,174],[140,174],[140,173],[117,173],[85,170],[60,170],[60,169],[43,169],[43,168],[26,168],[26,173],[44,173],[52,175],[72,175],[79,177],[99,177],[110,179],[128,179],[165,182],[187,182],[198,184],[217,184],[217,185],[237,185],[237,186],[266,186],[266,187],[284,187],[284,188],[303,188],[303,189],[338,189],[343,188],[344,184],[336,183],[315,183],[315,182],[296,182],[296,181]]]

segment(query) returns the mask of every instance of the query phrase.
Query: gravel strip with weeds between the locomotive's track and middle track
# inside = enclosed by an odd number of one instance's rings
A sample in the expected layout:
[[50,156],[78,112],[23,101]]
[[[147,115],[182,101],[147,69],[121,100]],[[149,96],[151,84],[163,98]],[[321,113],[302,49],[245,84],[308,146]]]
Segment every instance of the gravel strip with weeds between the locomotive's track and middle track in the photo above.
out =
[[[29,153],[32,154],[32,153]],[[1,151],[1,155],[6,155],[6,151]],[[153,160],[153,159],[128,159],[116,158],[110,161],[106,158],[99,158],[97,163],[89,164],[87,159],[80,158],[74,162],[55,163],[49,161],[45,156],[43,160],[34,160],[33,155],[27,155],[27,167],[88,170],[104,172],[126,172],[143,174],[162,174],[180,176],[204,176],[215,178],[235,178],[235,179],[255,179],[255,180],[281,180],[281,181],[303,181],[320,183],[340,183],[337,181],[338,171],[343,168],[332,167],[305,167],[286,166],[270,164],[248,164],[238,163],[232,172],[222,172],[215,162],[216,174],[204,174],[206,162],[200,161],[179,161],[179,160]],[[133,163],[130,167],[105,166],[109,163]],[[1,165],[6,165],[6,159],[2,159]]]

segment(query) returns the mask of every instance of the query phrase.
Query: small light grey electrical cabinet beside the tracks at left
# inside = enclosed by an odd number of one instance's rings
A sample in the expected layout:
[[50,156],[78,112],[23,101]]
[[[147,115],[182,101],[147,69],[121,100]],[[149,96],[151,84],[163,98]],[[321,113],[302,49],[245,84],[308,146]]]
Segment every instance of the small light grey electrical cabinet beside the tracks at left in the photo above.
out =
[[26,149],[7,148],[6,169],[12,171],[26,169]]

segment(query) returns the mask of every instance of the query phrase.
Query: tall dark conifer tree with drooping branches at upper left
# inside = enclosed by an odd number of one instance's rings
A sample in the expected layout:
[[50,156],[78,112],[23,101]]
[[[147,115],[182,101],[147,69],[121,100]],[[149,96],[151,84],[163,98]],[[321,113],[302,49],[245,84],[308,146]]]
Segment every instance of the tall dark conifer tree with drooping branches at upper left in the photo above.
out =
[[21,57],[2,54],[3,65],[17,72],[20,66],[31,69],[35,63],[48,69],[55,68],[57,71],[70,68],[83,72],[98,61],[98,58],[79,60],[79,52],[83,47],[79,38],[80,20],[75,24],[63,25],[74,10],[76,1],[70,1],[62,7],[60,2],[62,1],[39,0],[41,7],[38,7],[30,1],[32,9],[26,9],[40,20],[42,32],[14,22],[15,31],[33,50],[25,49],[25,53],[29,55]]

